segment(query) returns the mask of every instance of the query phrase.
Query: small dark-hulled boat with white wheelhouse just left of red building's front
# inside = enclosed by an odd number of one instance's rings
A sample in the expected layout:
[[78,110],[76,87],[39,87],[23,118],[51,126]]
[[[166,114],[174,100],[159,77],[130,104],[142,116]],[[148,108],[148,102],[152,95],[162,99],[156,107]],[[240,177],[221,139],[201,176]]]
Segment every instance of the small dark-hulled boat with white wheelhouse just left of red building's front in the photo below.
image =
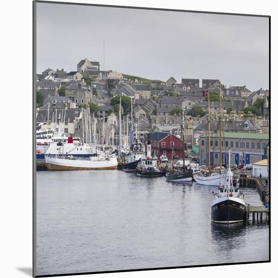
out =
[[166,170],[161,167],[157,156],[151,155],[150,138],[147,141],[147,156],[138,162],[136,174],[145,177],[164,176],[166,174]]

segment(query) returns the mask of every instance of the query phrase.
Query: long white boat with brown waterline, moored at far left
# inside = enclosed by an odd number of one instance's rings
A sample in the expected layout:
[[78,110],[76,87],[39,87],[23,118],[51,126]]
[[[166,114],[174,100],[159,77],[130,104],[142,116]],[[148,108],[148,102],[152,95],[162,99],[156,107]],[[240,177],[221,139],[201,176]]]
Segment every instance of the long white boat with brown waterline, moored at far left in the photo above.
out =
[[118,165],[116,155],[107,154],[92,154],[88,158],[45,155],[44,159],[49,170],[114,170]]

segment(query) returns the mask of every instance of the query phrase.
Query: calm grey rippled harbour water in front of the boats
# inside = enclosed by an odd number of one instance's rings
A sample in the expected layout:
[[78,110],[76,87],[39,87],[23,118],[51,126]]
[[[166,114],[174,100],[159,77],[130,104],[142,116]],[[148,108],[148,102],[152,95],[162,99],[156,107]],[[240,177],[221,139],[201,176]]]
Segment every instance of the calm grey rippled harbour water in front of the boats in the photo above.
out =
[[267,224],[211,223],[217,187],[119,170],[38,171],[36,184],[37,275],[269,259]]

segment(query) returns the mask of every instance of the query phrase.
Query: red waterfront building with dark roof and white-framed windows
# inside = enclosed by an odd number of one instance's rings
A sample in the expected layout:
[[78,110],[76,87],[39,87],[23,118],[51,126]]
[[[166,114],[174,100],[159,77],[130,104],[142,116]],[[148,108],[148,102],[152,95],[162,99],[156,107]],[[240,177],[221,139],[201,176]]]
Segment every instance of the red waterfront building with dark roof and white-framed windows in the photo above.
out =
[[166,155],[168,159],[173,155],[177,155],[182,159],[182,140],[174,134],[166,132],[154,132],[150,135],[152,152],[159,158]]

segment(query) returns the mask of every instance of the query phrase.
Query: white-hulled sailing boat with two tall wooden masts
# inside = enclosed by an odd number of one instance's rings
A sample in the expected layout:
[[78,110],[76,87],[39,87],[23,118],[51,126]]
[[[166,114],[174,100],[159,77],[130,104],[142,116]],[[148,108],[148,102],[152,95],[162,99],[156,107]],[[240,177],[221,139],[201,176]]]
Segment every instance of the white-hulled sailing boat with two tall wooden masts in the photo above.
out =
[[220,114],[219,114],[219,171],[217,172],[211,172],[211,165],[210,165],[210,102],[209,102],[209,90],[203,92],[203,97],[208,97],[208,172],[206,173],[196,173],[193,175],[194,180],[203,186],[219,186],[220,184],[223,185],[223,182],[225,181],[227,177],[227,173],[222,170],[222,118],[221,118],[221,89],[219,87],[219,96],[220,96]]

